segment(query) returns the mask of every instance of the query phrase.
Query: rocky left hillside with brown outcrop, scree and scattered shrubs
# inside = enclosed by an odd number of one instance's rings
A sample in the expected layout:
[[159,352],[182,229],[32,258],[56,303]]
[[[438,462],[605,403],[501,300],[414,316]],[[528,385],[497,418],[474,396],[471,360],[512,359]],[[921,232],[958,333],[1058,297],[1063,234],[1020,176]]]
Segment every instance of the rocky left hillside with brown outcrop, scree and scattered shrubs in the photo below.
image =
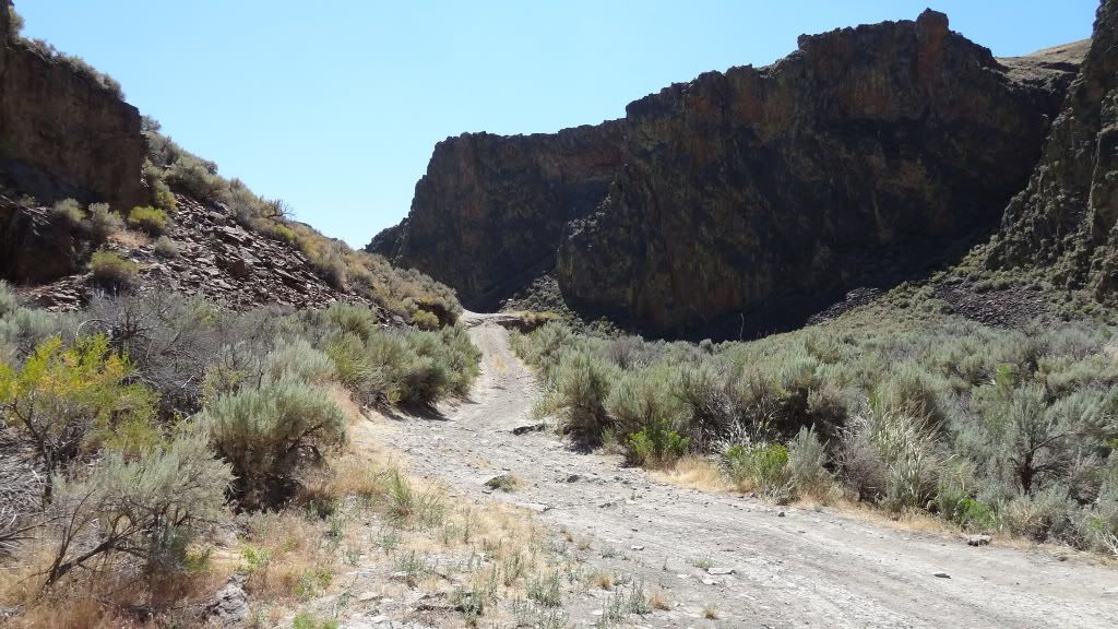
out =
[[[22,38],[15,15],[0,11],[0,280],[22,285],[25,299],[72,310],[97,292],[159,288],[239,309],[353,301],[398,325],[457,317],[449,289],[219,176],[125,103],[111,77]],[[98,254],[111,276],[91,266]]]

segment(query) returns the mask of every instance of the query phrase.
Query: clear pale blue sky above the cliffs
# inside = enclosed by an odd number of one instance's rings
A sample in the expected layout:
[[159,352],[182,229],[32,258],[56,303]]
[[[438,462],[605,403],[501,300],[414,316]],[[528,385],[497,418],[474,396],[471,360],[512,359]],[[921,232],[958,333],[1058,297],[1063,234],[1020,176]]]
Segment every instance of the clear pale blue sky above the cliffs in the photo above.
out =
[[363,246],[402,218],[436,142],[550,132],[802,32],[926,6],[995,55],[1090,36],[1097,0],[16,0],[23,34],[121,82],[186,149]]

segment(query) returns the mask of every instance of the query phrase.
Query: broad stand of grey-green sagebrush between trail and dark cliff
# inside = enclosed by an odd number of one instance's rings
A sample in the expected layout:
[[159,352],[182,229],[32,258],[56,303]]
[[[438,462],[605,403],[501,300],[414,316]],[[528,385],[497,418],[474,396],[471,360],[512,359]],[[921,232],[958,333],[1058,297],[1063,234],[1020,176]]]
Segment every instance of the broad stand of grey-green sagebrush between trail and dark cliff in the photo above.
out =
[[[1118,447],[1114,330],[999,330],[940,314],[915,323],[869,309],[758,341],[694,345],[549,322],[512,341],[547,387],[538,412],[616,434],[631,458],[639,454],[626,436],[665,415],[650,409],[672,407],[691,449],[754,444],[727,460],[743,487],[764,476],[756,444],[787,444],[787,484],[769,484],[779,499],[837,486],[967,529],[1118,544],[1118,497],[1105,489],[1118,481],[1102,480]],[[652,451],[647,435],[637,443]]]

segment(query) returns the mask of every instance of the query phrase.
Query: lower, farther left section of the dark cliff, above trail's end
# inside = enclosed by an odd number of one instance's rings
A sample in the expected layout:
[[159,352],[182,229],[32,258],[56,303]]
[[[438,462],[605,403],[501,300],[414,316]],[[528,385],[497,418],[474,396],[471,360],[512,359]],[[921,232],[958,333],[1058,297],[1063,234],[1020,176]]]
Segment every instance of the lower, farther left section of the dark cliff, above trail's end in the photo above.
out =
[[439,142],[411,214],[368,250],[438,276],[464,303],[490,309],[555,267],[566,223],[594,209],[622,163],[622,131],[607,122]]

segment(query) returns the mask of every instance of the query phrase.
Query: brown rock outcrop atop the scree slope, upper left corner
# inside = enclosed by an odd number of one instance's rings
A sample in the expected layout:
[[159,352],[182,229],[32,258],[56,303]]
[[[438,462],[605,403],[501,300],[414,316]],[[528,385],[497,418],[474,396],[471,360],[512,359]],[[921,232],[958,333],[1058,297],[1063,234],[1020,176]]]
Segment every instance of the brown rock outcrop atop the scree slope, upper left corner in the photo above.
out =
[[140,113],[12,32],[0,0],[0,184],[50,203],[141,205]]

